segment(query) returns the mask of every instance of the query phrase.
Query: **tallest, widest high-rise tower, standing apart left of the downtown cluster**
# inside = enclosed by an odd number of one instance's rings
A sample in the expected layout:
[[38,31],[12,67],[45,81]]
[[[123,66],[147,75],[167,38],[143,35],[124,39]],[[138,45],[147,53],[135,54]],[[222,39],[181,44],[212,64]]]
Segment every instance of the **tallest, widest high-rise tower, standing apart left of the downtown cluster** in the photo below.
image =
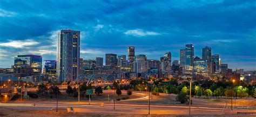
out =
[[79,75],[80,31],[58,31],[58,81],[74,81]]

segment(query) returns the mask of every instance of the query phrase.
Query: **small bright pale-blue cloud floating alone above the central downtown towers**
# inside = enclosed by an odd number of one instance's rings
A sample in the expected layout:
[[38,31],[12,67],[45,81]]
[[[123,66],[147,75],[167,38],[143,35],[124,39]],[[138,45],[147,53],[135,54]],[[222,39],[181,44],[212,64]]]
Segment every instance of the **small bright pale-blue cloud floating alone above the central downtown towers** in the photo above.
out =
[[160,33],[157,32],[151,32],[151,31],[143,31],[140,29],[137,30],[128,30],[124,32],[126,35],[133,35],[133,36],[149,36],[149,35],[160,35]]

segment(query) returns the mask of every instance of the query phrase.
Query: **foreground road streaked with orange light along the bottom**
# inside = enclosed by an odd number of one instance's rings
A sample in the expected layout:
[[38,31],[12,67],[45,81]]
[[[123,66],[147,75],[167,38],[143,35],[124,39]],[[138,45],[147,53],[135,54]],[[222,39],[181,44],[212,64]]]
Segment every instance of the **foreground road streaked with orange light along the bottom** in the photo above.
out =
[[[1,107],[6,108],[18,108],[18,109],[31,109],[31,110],[48,110],[51,111],[52,108],[56,108],[56,104],[53,103],[37,103],[35,106],[33,103],[0,103]],[[58,109],[66,109],[68,107],[73,107],[75,112],[83,113],[126,113],[126,114],[147,114],[148,105],[146,104],[116,104],[115,109],[113,109],[113,104],[107,103],[104,106],[100,104],[92,103],[88,104],[58,104]],[[188,114],[188,106],[167,106],[167,105],[151,105],[151,114],[175,114],[184,115]],[[254,109],[239,109],[235,111],[230,111],[229,108],[216,108],[216,107],[191,107],[191,114],[193,115],[224,115],[224,114],[234,114],[236,112],[256,112]]]

